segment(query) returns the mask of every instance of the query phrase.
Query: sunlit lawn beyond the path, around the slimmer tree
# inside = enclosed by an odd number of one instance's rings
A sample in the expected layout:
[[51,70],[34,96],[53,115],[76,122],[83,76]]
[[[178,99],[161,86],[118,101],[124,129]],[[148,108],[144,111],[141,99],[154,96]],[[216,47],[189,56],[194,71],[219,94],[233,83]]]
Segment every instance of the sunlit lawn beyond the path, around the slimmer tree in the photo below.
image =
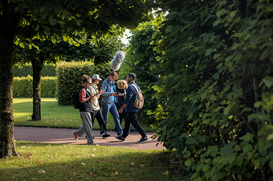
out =
[[[59,106],[55,98],[41,99],[41,120],[34,121],[32,115],[32,98],[14,98],[14,125],[30,127],[50,127],[50,128],[73,128],[78,129],[81,125],[79,110],[70,106]],[[121,128],[124,128],[124,120]],[[109,113],[107,121],[107,130],[114,130],[115,122],[113,116]],[[143,126],[146,132],[151,132],[151,127]],[[95,120],[93,130],[100,130],[98,121]]]

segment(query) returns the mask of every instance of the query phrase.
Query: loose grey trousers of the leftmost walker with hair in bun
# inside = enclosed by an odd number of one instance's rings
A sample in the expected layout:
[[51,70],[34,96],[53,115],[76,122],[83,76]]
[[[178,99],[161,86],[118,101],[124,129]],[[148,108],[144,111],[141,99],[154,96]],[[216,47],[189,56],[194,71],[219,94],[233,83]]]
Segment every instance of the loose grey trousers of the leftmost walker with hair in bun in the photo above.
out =
[[80,118],[82,125],[76,131],[75,133],[81,137],[84,133],[86,134],[87,137],[87,143],[92,143],[94,142],[93,139],[93,128],[92,128],[92,118],[91,118],[91,113],[89,112],[79,112]]

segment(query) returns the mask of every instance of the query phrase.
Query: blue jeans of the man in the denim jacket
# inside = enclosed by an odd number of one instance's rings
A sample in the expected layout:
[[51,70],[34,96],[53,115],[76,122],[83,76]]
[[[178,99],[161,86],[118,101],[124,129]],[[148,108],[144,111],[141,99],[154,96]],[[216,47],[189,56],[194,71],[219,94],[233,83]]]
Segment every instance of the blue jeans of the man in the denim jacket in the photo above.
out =
[[110,104],[101,102],[101,107],[102,107],[102,116],[105,122],[105,125],[107,125],[107,118],[108,118],[108,113],[110,112],[111,115],[113,115],[114,121],[115,121],[115,126],[117,129],[117,135],[120,135],[122,133],[122,129],[120,127],[120,120],[119,116],[117,113],[117,107],[116,104],[112,101]]

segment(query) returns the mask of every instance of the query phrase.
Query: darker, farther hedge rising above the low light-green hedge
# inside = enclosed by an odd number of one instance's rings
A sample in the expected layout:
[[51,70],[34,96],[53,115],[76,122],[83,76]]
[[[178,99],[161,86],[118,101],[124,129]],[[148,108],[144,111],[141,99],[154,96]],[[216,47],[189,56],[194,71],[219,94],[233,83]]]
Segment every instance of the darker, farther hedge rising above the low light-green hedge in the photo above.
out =
[[[14,77],[27,77],[33,76],[33,70],[31,63],[16,64],[14,65]],[[56,77],[56,66],[53,64],[45,63],[42,67],[41,77]]]

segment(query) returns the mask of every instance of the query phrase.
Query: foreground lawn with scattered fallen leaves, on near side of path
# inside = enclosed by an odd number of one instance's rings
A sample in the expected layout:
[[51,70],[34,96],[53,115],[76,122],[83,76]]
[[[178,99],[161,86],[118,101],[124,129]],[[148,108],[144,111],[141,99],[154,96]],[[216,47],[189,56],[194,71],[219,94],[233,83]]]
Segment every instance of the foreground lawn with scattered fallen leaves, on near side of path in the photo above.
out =
[[17,141],[20,157],[0,159],[1,181],[189,181],[166,150]]

